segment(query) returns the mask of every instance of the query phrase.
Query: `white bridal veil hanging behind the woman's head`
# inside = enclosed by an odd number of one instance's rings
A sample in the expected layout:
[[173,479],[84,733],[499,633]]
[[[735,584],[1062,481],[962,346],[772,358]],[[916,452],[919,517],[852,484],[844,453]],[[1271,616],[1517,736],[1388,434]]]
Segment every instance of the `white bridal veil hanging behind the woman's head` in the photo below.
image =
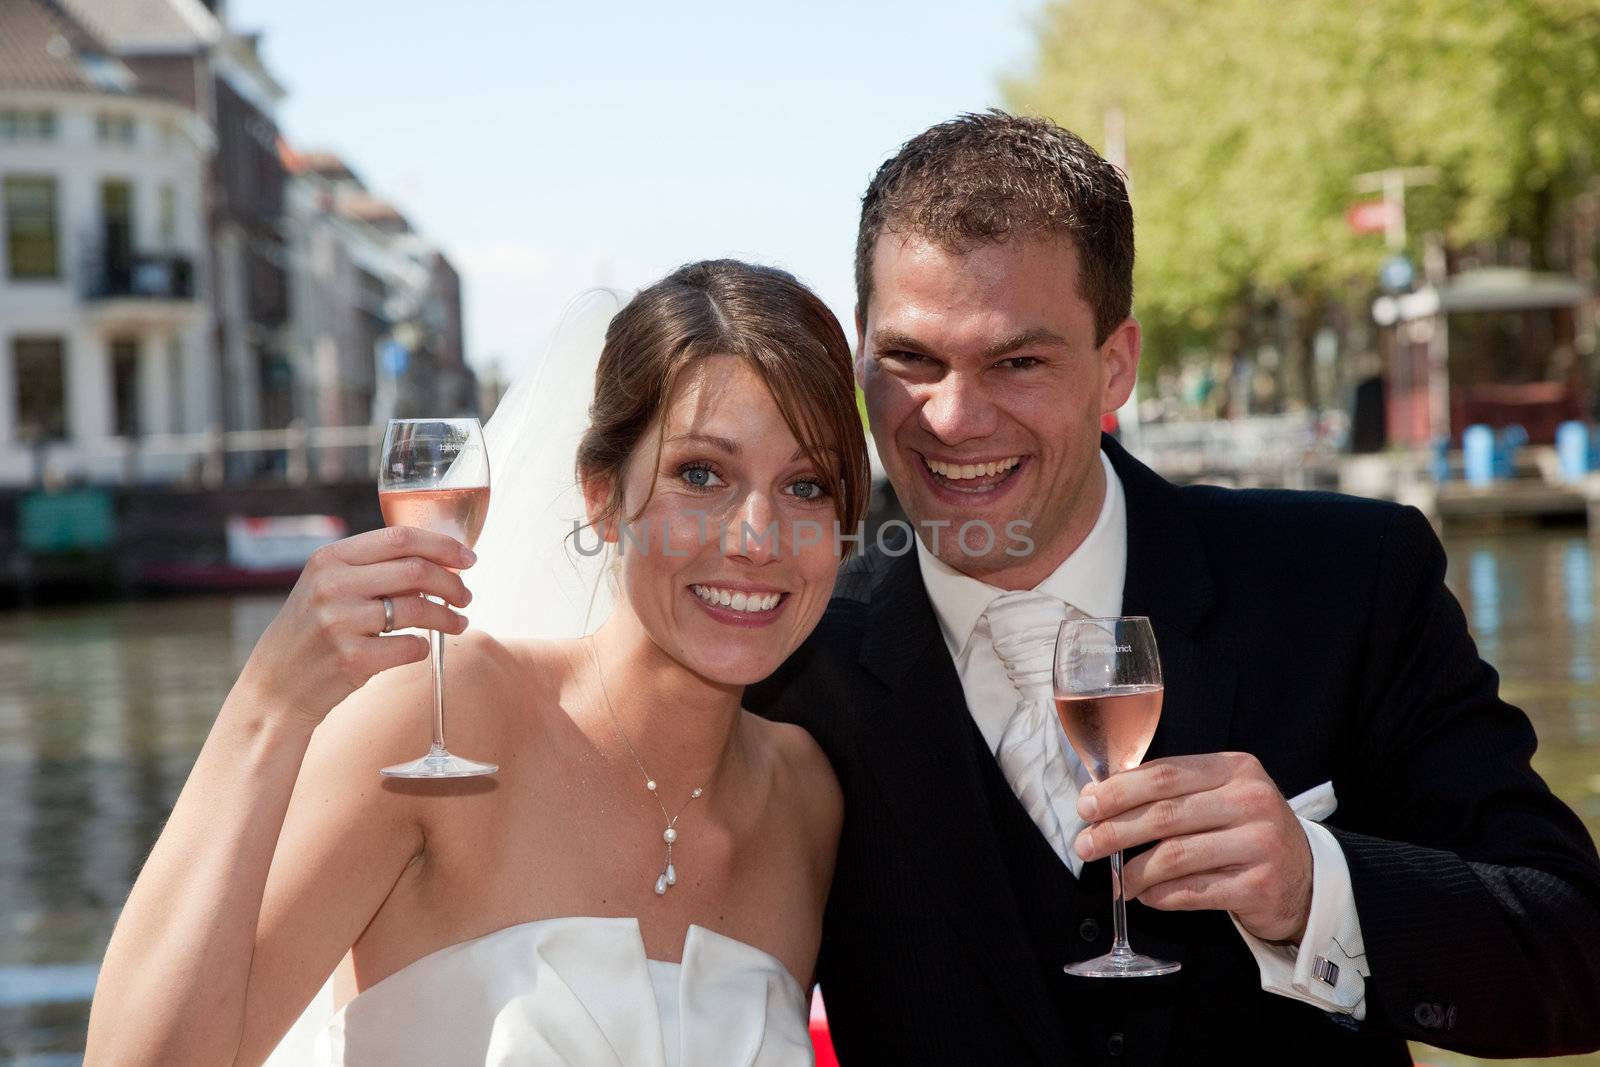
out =
[[584,517],[573,467],[589,427],[606,325],[627,301],[616,290],[573,299],[544,357],[485,427],[490,515],[478,563],[462,571],[475,629],[501,638],[578,637],[611,613],[610,584],[602,581],[606,557],[595,552],[594,531],[573,534]]

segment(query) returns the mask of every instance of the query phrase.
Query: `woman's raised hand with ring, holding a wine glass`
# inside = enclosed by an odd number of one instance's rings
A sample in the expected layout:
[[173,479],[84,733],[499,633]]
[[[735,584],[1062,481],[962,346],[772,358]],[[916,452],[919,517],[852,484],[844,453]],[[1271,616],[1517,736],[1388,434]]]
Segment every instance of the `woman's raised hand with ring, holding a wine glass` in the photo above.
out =
[[386,526],[317,549],[235,689],[315,726],[373,675],[427,656],[424,638],[382,633],[384,597],[394,601],[397,630],[467,629],[464,616],[424,595],[464,608],[472,593],[448,568],[474,560],[454,537],[416,526]]

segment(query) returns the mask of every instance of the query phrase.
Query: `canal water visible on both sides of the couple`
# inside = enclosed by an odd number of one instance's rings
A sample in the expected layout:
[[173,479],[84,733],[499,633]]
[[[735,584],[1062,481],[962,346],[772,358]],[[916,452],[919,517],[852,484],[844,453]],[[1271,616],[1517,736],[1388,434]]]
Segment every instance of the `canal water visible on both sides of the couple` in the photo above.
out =
[[[1539,773],[1600,838],[1600,549],[1581,530],[1462,536],[1446,547],[1482,654],[1538,728]],[[117,909],[280,603],[0,614],[0,1064],[82,1061]]]

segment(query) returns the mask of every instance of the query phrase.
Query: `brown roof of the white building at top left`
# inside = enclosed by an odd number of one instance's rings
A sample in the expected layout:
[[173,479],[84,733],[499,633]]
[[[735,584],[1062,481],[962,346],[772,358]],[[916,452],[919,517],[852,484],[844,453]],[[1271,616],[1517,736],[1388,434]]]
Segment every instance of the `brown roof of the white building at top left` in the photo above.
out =
[[0,90],[128,93],[138,78],[53,0],[0,0]]

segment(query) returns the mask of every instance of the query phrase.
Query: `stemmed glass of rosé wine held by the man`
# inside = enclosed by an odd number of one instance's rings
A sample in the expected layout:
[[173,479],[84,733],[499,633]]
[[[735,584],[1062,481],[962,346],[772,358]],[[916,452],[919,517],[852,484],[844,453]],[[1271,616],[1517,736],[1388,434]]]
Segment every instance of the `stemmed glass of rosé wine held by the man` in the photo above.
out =
[[[1099,782],[1139,766],[1162,721],[1162,659],[1150,621],[1144,616],[1067,619],[1056,633],[1051,675],[1061,729],[1090,777]],[[1110,952],[1067,966],[1067,974],[1146,977],[1176,971],[1178,963],[1139,955],[1128,944],[1120,849],[1110,857]]]

